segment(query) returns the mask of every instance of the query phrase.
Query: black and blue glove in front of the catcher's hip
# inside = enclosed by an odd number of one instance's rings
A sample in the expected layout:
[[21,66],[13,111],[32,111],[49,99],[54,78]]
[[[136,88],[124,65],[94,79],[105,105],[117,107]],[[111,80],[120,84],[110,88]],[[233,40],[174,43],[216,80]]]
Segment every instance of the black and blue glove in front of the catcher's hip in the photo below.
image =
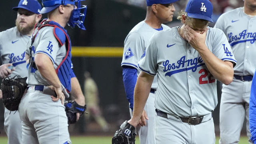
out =
[[74,124],[76,122],[76,113],[80,113],[80,117],[86,110],[86,105],[80,106],[74,100],[69,100],[64,103],[66,115],[68,117],[68,124]]

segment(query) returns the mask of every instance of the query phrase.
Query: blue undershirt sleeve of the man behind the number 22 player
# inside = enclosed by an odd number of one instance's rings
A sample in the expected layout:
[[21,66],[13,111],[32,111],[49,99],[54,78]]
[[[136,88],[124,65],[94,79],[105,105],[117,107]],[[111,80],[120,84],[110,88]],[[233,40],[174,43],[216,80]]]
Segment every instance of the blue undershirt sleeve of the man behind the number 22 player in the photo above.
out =
[[130,102],[130,108],[133,111],[133,94],[134,87],[137,81],[137,69],[132,66],[122,66],[123,68],[123,82],[126,98]]

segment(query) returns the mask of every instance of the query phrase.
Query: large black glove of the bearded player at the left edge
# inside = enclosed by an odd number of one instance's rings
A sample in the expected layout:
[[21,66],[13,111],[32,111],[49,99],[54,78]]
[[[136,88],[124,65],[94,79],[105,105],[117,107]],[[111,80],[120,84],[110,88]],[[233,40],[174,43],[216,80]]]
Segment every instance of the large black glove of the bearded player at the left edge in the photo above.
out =
[[18,110],[20,100],[27,88],[27,77],[21,78],[20,76],[10,76],[4,78],[1,83],[1,90],[3,95],[4,106],[10,110]]

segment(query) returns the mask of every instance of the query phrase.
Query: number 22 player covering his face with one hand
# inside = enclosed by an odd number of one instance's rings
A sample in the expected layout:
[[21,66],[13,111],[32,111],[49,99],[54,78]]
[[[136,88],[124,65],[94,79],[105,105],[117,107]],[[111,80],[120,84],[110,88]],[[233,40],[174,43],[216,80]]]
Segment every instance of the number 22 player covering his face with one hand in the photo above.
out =
[[189,0],[178,16],[183,25],[156,32],[138,63],[142,72],[128,123],[138,125],[157,74],[156,144],[215,144],[216,80],[230,84],[236,60],[225,34],[208,27],[211,16],[210,1]]

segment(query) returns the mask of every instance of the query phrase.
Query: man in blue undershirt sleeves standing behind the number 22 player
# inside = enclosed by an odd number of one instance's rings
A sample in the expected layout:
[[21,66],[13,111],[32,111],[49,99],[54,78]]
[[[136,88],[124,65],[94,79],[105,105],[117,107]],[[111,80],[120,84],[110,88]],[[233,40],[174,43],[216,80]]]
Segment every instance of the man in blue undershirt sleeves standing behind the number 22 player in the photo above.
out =
[[[121,66],[123,68],[123,82],[126,98],[130,102],[130,113],[133,110],[133,92],[140,70],[138,61],[145,56],[146,46],[151,36],[160,30],[169,27],[162,24],[172,21],[175,11],[174,2],[177,0],[146,0],[146,18],[138,23],[129,32],[124,40],[124,53]],[[141,126],[138,128],[141,144],[154,144],[153,123],[155,117],[154,98],[156,93],[156,78],[152,83],[150,94],[141,117]]]

